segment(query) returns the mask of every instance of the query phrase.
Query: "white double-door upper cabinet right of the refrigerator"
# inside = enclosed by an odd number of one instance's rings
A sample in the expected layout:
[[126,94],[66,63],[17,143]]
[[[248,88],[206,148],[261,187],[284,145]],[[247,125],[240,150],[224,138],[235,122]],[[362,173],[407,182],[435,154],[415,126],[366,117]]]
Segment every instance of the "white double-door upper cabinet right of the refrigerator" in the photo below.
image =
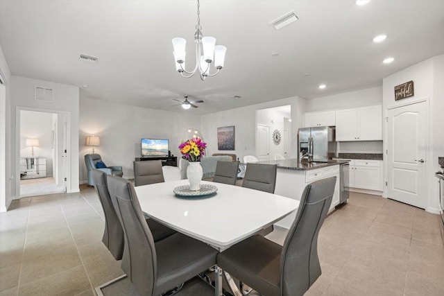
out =
[[337,110],[336,141],[382,141],[382,105]]

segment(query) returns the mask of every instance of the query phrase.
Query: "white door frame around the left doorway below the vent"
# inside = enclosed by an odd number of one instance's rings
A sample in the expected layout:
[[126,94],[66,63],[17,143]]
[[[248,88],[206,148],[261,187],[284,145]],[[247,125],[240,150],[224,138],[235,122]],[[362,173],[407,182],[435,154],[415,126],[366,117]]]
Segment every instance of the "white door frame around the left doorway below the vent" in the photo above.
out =
[[[20,124],[21,122],[21,116],[22,111],[34,111],[34,112],[44,112],[44,113],[51,113],[51,114],[58,114],[57,121],[60,120],[61,117],[64,118],[64,121],[67,121],[67,134],[66,140],[67,140],[67,147],[71,147],[71,112],[63,111],[63,110],[53,110],[53,109],[43,109],[43,108],[37,108],[37,107],[25,107],[25,106],[17,106],[15,109],[15,196],[16,199],[20,198],[20,132],[22,130],[22,126]],[[64,115],[64,116],[60,116]],[[59,162],[60,155],[57,155],[57,158],[55,157],[53,159],[53,162]],[[67,179],[67,191],[71,192],[71,149],[68,149],[68,153],[66,154],[66,157],[64,158],[65,162],[65,177]]]

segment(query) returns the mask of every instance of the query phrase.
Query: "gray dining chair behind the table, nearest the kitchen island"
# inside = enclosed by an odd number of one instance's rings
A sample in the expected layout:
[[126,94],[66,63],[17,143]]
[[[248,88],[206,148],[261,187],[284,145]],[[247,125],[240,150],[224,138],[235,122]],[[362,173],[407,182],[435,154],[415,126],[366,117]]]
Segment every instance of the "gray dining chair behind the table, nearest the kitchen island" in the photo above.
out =
[[274,193],[277,168],[278,166],[275,164],[248,163],[242,186],[268,193]]

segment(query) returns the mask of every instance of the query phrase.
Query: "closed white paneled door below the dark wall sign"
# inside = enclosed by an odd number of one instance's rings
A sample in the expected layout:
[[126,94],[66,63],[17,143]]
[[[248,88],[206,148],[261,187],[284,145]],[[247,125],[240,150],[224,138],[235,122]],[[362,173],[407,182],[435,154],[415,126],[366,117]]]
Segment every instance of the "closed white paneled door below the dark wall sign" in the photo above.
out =
[[388,110],[387,197],[427,205],[427,103]]

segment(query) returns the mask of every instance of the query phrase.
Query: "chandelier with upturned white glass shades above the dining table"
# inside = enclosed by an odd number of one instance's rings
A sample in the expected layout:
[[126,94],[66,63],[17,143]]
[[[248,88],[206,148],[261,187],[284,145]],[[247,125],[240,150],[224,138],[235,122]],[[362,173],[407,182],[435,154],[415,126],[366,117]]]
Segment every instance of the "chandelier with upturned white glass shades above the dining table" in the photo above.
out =
[[[223,68],[225,53],[227,48],[223,45],[216,45],[216,38],[202,35],[200,26],[200,3],[197,0],[197,25],[194,33],[194,43],[196,44],[196,66],[193,71],[185,70],[185,45],[187,40],[184,38],[173,38],[173,55],[176,61],[176,70],[185,78],[190,78],[198,71],[201,80],[207,76],[216,76]],[[210,64],[214,61],[216,72],[210,74]]]

